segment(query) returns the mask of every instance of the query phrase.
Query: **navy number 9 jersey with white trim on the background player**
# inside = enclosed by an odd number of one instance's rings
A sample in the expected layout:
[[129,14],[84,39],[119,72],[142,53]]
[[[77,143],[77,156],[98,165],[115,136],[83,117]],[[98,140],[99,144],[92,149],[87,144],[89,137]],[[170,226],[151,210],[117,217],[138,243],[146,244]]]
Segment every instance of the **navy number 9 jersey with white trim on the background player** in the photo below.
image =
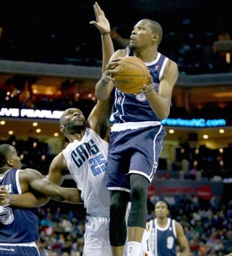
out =
[[150,220],[150,247],[155,256],[176,256],[178,244],[175,220],[167,218],[167,225],[160,227],[157,219]]

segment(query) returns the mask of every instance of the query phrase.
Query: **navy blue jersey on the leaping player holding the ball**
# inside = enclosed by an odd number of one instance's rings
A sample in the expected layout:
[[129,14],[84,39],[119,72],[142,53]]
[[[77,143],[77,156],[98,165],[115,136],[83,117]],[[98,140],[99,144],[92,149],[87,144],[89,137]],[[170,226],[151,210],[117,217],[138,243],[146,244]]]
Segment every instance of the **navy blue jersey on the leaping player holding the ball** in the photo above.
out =
[[[127,55],[130,55],[129,49],[127,49]],[[153,79],[152,86],[157,93],[159,92],[159,84],[167,61],[168,58],[165,55],[158,53],[155,61],[145,62]],[[160,121],[156,113],[150,108],[150,103],[143,93],[138,95],[124,94],[121,90],[116,89],[114,98],[113,118],[115,124]]]

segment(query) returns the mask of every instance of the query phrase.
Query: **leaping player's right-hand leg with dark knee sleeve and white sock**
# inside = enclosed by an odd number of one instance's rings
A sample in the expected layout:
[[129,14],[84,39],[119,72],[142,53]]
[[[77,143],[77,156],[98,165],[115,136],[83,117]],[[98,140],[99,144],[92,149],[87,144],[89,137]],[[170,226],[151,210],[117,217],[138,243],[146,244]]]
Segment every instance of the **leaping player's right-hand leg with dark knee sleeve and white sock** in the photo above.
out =
[[139,256],[147,221],[147,193],[149,180],[139,174],[130,175],[131,211],[128,217],[127,255]]

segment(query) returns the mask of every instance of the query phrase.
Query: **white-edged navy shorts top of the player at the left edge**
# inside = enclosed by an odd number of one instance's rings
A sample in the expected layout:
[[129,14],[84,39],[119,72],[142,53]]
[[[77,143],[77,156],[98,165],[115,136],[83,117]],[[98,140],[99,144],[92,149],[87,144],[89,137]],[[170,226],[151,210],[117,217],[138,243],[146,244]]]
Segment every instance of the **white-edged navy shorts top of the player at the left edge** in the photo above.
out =
[[1,256],[40,256],[36,242],[0,243]]

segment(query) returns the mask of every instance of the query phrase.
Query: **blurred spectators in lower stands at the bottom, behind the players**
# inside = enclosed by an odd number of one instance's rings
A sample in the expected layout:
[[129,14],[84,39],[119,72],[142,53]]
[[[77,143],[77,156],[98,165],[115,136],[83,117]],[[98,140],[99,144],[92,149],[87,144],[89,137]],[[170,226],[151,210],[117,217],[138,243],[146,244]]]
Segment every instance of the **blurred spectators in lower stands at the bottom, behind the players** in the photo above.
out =
[[[148,220],[154,218],[154,206],[160,199],[169,204],[171,217],[183,224],[192,256],[224,256],[232,252],[232,200],[225,202],[218,196],[206,201],[195,195],[153,195],[148,199]],[[56,203],[39,207],[38,212],[37,244],[41,255],[81,256],[85,231],[82,210]]]

